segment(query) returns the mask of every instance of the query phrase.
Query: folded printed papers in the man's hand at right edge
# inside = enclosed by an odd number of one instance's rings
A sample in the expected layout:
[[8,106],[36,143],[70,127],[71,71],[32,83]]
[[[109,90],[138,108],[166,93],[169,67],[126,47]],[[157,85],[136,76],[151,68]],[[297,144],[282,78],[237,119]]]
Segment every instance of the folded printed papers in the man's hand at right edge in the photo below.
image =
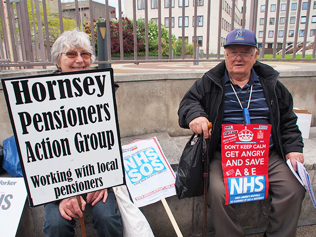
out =
[[300,183],[302,184],[302,186],[305,187],[310,200],[312,201],[315,209],[316,209],[316,200],[315,200],[315,196],[313,193],[313,190],[311,188],[311,183],[310,183],[310,179],[309,179],[309,174],[307,173],[304,165],[300,162],[296,162],[297,163],[297,172],[294,170],[292,163],[290,160],[287,160],[287,165],[288,167],[291,169],[291,171],[293,172],[293,174],[295,175],[295,177],[300,181]]

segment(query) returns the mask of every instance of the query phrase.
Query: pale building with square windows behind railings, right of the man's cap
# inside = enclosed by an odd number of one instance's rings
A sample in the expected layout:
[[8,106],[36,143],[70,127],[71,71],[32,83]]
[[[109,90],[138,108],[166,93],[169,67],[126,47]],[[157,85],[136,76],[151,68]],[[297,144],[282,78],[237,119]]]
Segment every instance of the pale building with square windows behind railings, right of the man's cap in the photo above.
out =
[[275,44],[277,52],[281,52],[284,43],[286,53],[292,53],[294,46],[300,51],[304,38],[306,49],[310,49],[316,29],[316,1],[281,0],[278,4],[277,0],[270,0],[267,6],[259,1],[256,22],[258,44],[265,46],[266,54]]

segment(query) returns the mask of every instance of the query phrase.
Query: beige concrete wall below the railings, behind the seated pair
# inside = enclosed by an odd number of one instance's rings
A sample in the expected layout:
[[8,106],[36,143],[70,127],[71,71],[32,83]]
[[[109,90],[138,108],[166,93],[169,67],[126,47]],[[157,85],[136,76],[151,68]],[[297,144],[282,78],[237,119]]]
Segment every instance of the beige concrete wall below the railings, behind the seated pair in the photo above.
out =
[[[17,77],[30,71],[0,75]],[[120,86],[116,92],[121,137],[167,131],[170,136],[190,134],[178,126],[177,110],[183,95],[203,73],[117,74],[114,80]],[[316,72],[282,72],[280,81],[294,98],[294,107],[312,113],[312,126],[316,112]],[[12,135],[2,86],[0,88],[0,144]]]

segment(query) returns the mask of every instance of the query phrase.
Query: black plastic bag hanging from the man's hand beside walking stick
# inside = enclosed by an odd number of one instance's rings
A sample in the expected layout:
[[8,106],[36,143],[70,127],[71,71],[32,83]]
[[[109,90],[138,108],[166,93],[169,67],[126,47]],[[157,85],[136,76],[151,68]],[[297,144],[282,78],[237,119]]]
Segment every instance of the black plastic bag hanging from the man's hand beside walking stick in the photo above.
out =
[[183,150],[175,179],[178,199],[203,195],[205,147],[204,136],[193,134]]

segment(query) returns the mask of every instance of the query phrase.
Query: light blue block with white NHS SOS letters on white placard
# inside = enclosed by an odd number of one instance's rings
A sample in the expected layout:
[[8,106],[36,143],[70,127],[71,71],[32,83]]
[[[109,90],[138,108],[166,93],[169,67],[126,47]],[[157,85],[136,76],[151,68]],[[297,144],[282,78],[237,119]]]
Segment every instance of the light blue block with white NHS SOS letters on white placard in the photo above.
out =
[[166,167],[151,148],[125,159],[124,169],[131,183],[136,183],[153,173],[165,170]]

